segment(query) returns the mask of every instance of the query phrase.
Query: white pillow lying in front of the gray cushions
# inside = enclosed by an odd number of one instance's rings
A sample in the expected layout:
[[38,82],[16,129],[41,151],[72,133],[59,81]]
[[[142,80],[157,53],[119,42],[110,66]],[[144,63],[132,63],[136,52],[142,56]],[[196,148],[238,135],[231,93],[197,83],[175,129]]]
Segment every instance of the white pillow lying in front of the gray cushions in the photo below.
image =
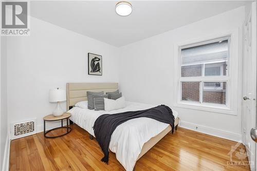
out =
[[113,100],[113,99],[106,99],[104,98],[104,110],[105,111],[111,111],[111,110],[117,110],[126,107],[126,102],[124,96],[122,96],[119,99]]

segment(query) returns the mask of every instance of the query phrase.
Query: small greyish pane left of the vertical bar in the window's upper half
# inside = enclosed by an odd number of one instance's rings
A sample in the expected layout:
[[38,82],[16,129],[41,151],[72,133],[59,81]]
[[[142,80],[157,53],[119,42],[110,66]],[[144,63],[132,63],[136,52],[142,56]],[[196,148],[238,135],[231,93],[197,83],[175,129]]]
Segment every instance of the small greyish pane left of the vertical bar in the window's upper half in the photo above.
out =
[[201,77],[201,65],[181,66],[181,77]]

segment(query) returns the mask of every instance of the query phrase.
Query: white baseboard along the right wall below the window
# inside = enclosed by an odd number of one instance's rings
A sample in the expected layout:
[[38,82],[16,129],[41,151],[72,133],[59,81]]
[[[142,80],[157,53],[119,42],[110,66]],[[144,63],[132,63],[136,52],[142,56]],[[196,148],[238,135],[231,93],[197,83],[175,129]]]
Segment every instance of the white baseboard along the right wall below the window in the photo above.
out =
[[232,141],[242,143],[242,135],[234,133],[234,132],[217,129],[217,128],[212,128],[212,127],[208,127],[208,126],[204,126],[204,125],[197,125],[197,124],[185,122],[185,121],[180,121],[180,127],[198,131],[198,132],[208,134],[211,136],[224,138],[227,140],[232,140]]

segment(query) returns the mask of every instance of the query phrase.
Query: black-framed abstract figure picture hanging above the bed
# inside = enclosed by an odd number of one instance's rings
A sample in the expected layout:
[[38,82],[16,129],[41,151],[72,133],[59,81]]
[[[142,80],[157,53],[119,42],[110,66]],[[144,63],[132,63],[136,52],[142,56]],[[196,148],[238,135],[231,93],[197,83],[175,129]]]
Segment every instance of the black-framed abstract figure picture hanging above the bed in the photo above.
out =
[[[99,61],[97,61],[98,59]],[[87,64],[88,75],[103,75],[102,55],[87,53]],[[92,68],[93,66],[94,68]]]

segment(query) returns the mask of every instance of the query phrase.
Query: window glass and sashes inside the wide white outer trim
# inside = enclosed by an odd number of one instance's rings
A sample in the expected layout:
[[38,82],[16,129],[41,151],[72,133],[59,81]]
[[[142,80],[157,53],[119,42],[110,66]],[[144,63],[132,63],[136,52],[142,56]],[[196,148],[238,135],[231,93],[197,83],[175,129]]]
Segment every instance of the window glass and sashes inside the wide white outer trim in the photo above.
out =
[[230,37],[180,47],[180,101],[227,105]]

